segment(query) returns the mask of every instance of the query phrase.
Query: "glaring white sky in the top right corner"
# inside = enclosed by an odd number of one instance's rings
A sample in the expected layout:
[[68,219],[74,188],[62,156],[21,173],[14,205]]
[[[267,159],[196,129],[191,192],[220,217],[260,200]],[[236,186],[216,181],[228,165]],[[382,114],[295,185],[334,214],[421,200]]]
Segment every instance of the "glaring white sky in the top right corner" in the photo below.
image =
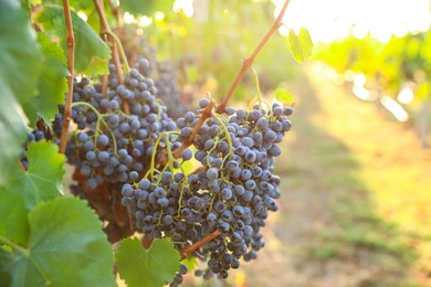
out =
[[[284,0],[273,2],[281,8]],[[313,42],[344,36],[353,24],[358,38],[369,31],[388,41],[391,34],[429,30],[430,0],[291,0],[283,22],[290,29],[306,28]]]

